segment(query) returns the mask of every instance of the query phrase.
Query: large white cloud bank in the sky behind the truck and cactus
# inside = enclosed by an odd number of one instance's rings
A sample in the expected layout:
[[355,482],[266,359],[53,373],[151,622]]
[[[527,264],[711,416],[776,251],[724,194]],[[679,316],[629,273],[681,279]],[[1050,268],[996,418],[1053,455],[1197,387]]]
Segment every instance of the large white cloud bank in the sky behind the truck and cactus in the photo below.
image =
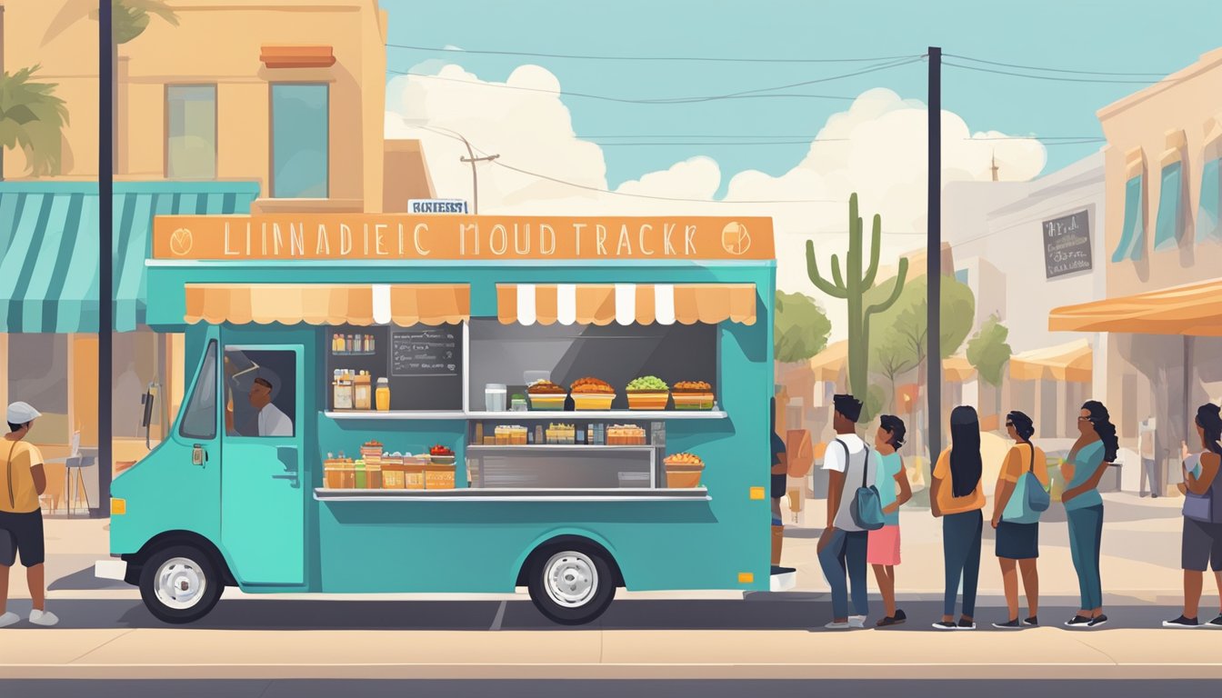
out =
[[[521,66],[503,83],[492,83],[506,86],[500,88],[486,87],[456,65],[430,72],[436,77],[401,76],[389,83],[386,136],[424,142],[439,196],[469,198],[470,165],[459,161],[467,154],[461,142],[422,127],[462,133],[477,148],[499,154],[506,165],[593,189],[607,188],[602,149],[576,137],[568,108],[557,94],[560,82],[550,71]],[[600,193],[496,165],[479,165],[480,210],[772,216],[778,285],[787,291],[820,296],[807,277],[805,241],[815,241],[820,263],[846,248],[843,233],[848,230],[848,198],[853,192],[859,194],[868,229],[875,213],[882,216],[882,264],[924,246],[926,112],[923,103],[901,99],[888,89],[866,90],[847,111],[827,119],[807,156],[792,170],[780,176],[754,170],[733,174],[726,196],[732,200],[836,203],[712,203],[723,174],[715,160],[699,156],[645,172],[616,188],[620,194],[634,196]],[[992,158],[1002,180],[1029,180],[1044,169],[1046,152],[1041,143],[997,139],[1002,136],[996,131],[973,133],[962,117],[943,110],[943,182],[989,180]],[[832,314],[833,332],[841,336],[843,304],[824,301]]]

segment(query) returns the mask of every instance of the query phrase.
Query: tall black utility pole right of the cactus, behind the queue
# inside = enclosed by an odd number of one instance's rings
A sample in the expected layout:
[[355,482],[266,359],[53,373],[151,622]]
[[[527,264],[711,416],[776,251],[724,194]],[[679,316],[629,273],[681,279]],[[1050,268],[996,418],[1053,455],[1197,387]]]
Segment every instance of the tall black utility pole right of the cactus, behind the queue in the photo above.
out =
[[942,49],[929,48],[929,249],[925,260],[925,395],[929,457],[942,452]]

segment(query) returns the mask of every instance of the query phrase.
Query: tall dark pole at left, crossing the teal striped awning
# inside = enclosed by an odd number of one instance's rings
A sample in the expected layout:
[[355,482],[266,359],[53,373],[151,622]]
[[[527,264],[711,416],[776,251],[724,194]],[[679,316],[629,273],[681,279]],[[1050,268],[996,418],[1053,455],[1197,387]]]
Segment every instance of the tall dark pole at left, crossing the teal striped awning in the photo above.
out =
[[111,4],[98,4],[98,516],[110,516],[114,419],[114,251],[115,238],[115,35]]

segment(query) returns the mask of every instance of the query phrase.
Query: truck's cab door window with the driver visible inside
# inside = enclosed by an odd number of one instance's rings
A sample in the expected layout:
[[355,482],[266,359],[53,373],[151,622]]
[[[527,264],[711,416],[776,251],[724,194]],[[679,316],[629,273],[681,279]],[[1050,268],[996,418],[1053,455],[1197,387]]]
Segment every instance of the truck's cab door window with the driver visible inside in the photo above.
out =
[[297,423],[297,355],[225,347],[225,433],[292,436]]

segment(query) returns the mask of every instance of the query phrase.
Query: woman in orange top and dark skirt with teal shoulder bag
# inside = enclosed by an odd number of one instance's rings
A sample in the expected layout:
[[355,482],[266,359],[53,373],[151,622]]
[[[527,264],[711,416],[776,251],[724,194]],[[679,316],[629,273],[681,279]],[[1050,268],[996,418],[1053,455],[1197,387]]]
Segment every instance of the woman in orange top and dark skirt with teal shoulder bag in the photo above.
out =
[[[1018,490],[1019,480],[1033,473],[1040,487],[1048,488],[1047,458],[1041,449],[1031,444],[1035,424],[1022,412],[1006,416],[1006,433],[1014,445],[1006,454],[1001,473],[997,476],[997,489],[993,494],[992,527],[997,531],[997,561],[1001,564],[1002,587],[1006,589],[1007,621],[993,623],[1002,630],[1040,625],[1040,576],[1036,560],[1040,556],[1040,522],[1018,523],[1006,521],[1002,512]],[[1026,487],[1030,487],[1028,484]],[[1019,495],[1025,496],[1025,491]],[[1023,589],[1026,592],[1028,617],[1018,620],[1018,573],[1023,573]]]

